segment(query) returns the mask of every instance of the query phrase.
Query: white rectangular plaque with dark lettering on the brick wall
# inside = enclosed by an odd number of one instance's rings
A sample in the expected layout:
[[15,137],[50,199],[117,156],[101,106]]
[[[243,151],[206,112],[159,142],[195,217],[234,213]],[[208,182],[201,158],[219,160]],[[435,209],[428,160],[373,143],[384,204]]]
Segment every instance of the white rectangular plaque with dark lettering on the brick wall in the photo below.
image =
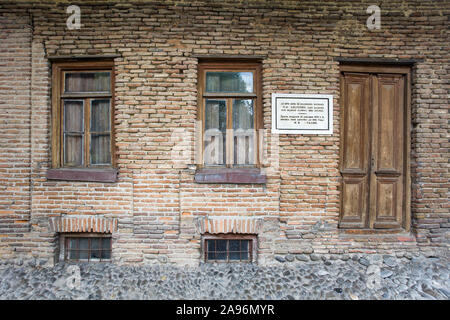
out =
[[333,134],[333,96],[272,93],[272,132]]

